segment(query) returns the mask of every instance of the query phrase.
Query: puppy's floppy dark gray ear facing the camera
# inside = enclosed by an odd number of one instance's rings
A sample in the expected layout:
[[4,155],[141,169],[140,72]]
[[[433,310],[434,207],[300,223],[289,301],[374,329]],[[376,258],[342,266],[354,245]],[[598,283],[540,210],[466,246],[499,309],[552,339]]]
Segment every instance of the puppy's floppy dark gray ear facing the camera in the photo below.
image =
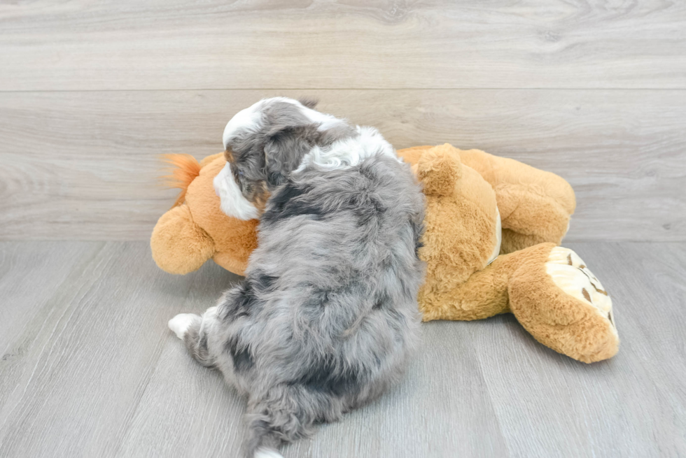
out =
[[281,185],[302,162],[302,157],[317,143],[316,124],[286,126],[269,133],[265,145],[267,187]]

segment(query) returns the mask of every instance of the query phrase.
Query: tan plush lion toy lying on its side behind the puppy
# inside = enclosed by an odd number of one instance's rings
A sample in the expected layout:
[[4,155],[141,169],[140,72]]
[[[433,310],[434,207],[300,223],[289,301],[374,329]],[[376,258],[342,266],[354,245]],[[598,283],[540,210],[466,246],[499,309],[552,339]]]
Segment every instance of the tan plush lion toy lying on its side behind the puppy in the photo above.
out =
[[[575,209],[570,185],[545,171],[445,144],[399,150],[426,195],[419,257],[423,321],[480,320],[513,313],[540,343],[582,362],[615,355],[612,301],[572,250],[556,246]],[[153,229],[153,258],[170,273],[212,258],[242,275],[257,221],[224,215],[212,180],[222,155],[174,155],[182,192]]]

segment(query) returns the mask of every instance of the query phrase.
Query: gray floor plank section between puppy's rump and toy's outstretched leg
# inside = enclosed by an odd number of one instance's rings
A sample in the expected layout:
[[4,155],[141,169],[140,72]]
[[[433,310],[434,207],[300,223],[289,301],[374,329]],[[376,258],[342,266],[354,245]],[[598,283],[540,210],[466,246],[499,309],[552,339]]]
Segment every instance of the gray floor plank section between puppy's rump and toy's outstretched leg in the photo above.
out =
[[309,441],[295,457],[510,457],[477,348],[454,323],[423,326],[423,341],[401,385]]

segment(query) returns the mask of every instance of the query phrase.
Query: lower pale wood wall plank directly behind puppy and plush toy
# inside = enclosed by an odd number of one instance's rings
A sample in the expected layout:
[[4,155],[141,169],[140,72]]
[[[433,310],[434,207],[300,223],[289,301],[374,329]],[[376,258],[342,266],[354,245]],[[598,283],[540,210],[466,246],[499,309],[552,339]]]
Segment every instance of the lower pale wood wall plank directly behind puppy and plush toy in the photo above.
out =
[[575,187],[568,240],[686,240],[686,91],[296,90],[0,93],[0,239],[145,240],[173,201],[160,153],[221,150],[263,96],[311,95],[397,148],[449,142]]

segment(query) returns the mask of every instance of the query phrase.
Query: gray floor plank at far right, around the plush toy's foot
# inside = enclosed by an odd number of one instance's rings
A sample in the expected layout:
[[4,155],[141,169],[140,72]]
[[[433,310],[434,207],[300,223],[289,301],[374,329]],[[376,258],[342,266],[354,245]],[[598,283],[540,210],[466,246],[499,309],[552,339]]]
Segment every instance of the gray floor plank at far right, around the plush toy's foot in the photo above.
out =
[[475,347],[512,455],[685,456],[686,246],[569,248],[612,296],[619,353],[585,366],[542,347],[511,315],[477,323]]

